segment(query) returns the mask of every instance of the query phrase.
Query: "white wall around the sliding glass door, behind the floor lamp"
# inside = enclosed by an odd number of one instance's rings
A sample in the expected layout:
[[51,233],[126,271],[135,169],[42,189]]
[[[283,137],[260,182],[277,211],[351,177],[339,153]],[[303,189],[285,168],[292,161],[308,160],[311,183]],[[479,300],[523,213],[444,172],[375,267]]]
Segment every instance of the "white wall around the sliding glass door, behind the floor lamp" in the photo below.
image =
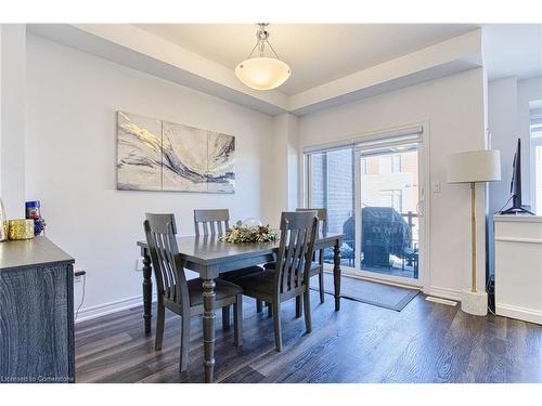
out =
[[[459,299],[469,286],[470,217],[467,185],[446,183],[446,158],[485,147],[485,78],[481,68],[374,96],[299,119],[299,145],[322,144],[411,123],[428,125],[429,176],[441,193],[429,193],[429,253],[425,291]],[[426,145],[428,147],[429,145]],[[478,247],[485,247],[485,188],[477,188]],[[485,286],[485,254],[478,256],[478,286]]]

